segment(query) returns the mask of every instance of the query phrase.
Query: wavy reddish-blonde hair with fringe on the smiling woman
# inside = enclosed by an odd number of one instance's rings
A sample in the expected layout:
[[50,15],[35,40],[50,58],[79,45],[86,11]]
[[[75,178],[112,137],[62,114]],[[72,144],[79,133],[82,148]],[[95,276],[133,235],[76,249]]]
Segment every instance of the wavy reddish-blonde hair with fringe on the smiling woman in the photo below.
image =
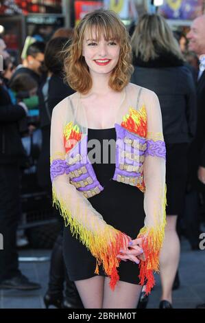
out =
[[[64,51],[65,80],[70,87],[82,94],[88,93],[92,87],[92,78],[88,65],[82,56],[84,35],[95,33],[97,41],[101,35],[106,41],[112,39],[120,45],[119,61],[110,74],[108,85],[114,91],[121,91],[128,82],[134,70],[132,66],[132,49],[130,36],[119,16],[111,10],[95,10],[84,16],[75,27],[69,47]],[[92,37],[95,39],[95,37]]]

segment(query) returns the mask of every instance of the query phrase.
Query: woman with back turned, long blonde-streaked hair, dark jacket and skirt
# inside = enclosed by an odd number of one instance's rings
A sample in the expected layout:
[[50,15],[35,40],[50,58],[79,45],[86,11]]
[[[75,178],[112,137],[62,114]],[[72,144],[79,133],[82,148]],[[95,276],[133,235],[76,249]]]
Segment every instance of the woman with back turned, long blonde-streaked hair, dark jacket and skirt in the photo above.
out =
[[160,101],[163,134],[167,149],[167,225],[160,252],[162,296],[159,307],[172,308],[171,290],[180,260],[176,232],[182,211],[187,176],[187,149],[195,134],[195,85],[191,71],[165,19],[144,14],[132,35],[134,84],[154,91]]

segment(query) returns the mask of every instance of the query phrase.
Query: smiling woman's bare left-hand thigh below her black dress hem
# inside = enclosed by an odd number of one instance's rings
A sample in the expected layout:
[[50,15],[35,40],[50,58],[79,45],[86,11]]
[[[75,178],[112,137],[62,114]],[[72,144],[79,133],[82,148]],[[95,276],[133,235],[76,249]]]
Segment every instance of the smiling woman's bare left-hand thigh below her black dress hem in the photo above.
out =
[[101,309],[104,297],[104,276],[76,280],[75,285],[85,309]]

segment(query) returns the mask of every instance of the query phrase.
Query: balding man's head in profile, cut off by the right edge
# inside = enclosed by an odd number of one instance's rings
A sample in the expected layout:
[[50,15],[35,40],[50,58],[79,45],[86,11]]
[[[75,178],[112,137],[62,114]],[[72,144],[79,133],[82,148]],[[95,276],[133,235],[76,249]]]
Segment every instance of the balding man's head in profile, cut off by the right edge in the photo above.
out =
[[205,14],[194,19],[189,33],[189,50],[195,52],[199,57],[205,54]]

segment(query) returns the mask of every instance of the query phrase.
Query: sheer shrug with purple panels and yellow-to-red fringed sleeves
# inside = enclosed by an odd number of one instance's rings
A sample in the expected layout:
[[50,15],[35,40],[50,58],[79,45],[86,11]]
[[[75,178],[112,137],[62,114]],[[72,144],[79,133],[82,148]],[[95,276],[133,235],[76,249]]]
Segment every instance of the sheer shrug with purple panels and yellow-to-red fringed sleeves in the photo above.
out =
[[[117,133],[114,181],[136,186],[144,192],[145,225],[138,234],[143,240],[145,261],[140,263],[141,285],[149,293],[153,271],[159,269],[159,252],[165,231],[165,142],[158,97],[132,83],[121,92],[121,105],[113,125]],[[126,232],[106,223],[89,198],[101,186],[87,155],[88,124],[80,93],[62,100],[51,120],[51,181],[56,203],[71,232],[102,264],[113,289],[119,280],[119,250],[128,246]],[[128,205],[129,208],[129,205]],[[136,205],[137,216],[137,205]],[[129,221],[129,219],[128,219]],[[136,238],[136,237],[132,237]]]

